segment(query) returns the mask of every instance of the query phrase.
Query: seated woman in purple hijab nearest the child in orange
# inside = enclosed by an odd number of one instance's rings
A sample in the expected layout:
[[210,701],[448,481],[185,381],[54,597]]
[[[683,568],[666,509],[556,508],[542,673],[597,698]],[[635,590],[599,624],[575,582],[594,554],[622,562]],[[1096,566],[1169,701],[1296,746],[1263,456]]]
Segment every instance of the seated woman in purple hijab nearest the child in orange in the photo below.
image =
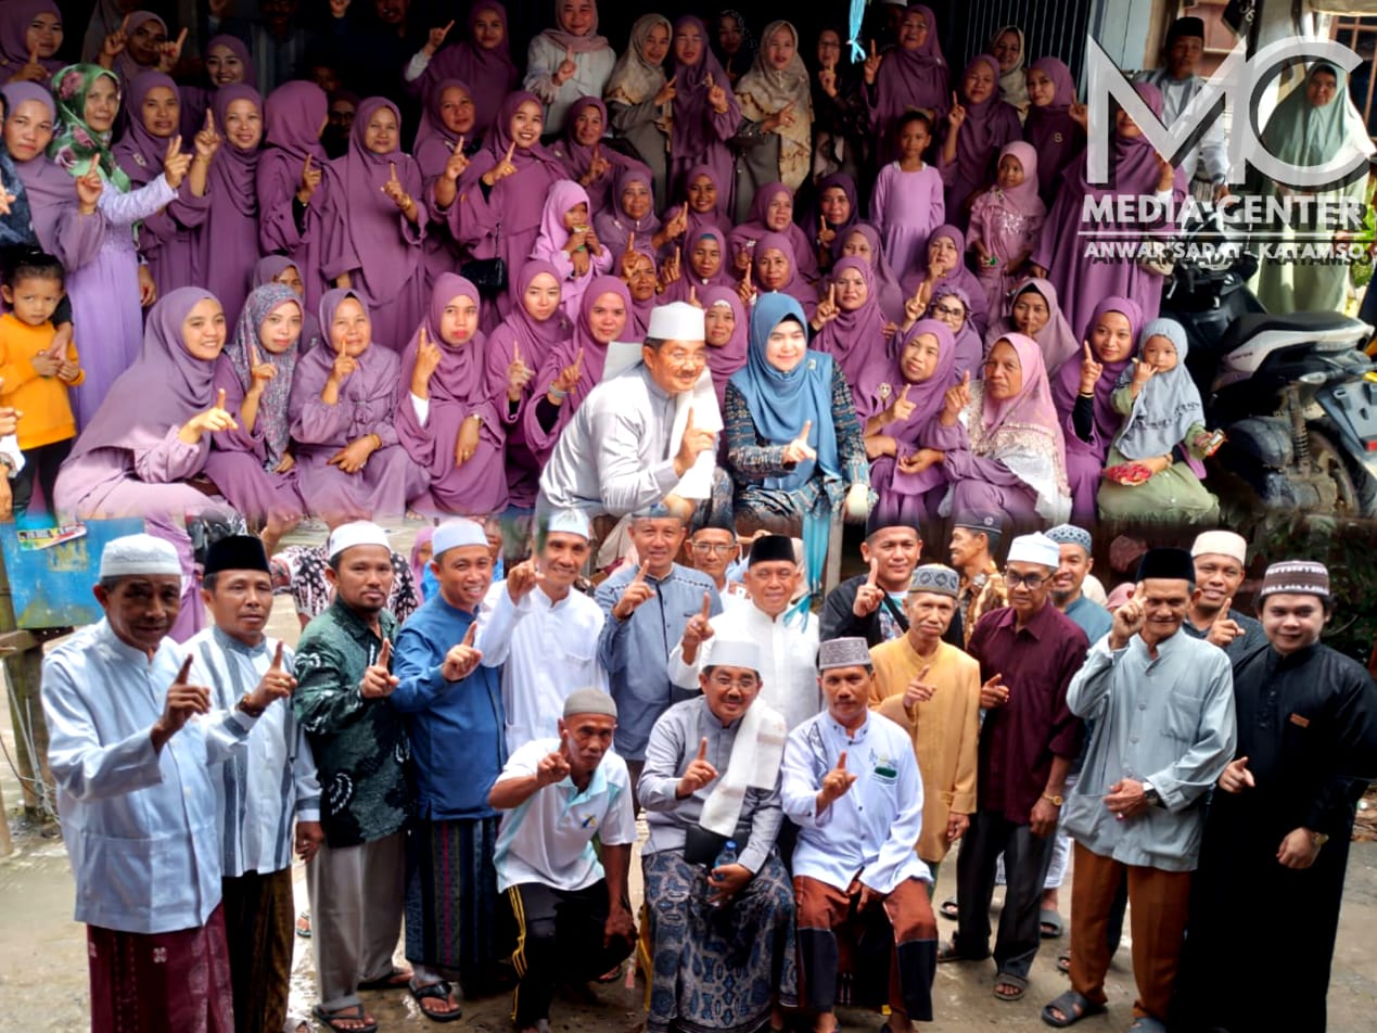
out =
[[235,423],[215,390],[224,337],[224,310],[208,291],[185,286],[161,299],[138,361],[110,386],[52,492],[65,519],[142,516],[150,534],[172,543],[187,585],[171,632],[178,642],[205,621],[185,522],[226,508],[186,483],[204,471],[212,435]]

